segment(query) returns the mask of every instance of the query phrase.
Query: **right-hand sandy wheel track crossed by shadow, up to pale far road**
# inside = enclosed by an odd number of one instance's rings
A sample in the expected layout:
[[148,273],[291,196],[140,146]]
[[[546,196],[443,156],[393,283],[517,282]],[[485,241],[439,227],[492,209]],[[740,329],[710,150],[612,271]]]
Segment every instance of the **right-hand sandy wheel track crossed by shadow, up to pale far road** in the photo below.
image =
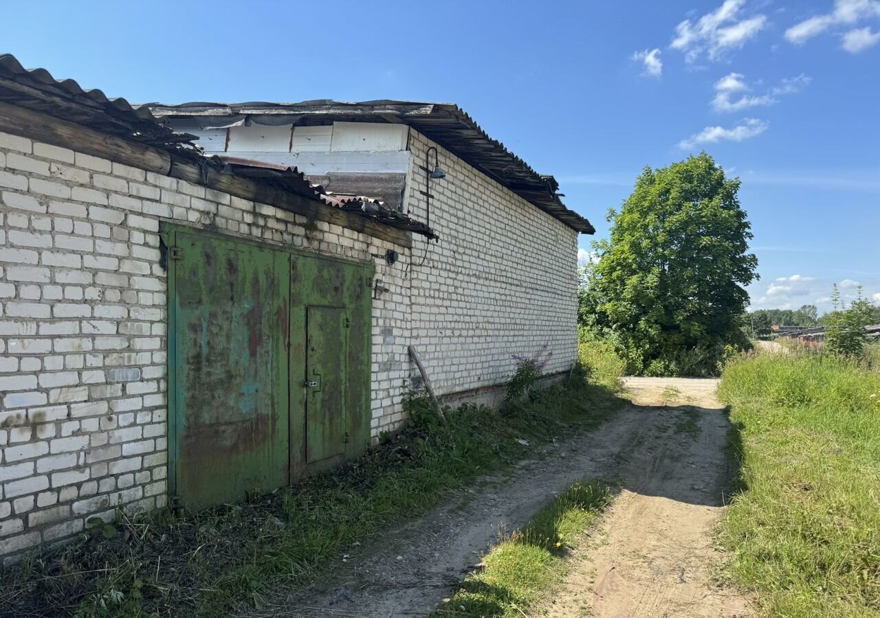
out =
[[[627,453],[615,500],[560,593],[535,614],[596,616],[747,616],[748,602],[711,581],[722,557],[712,534],[730,481],[728,429],[714,380],[630,378],[635,404],[692,404],[693,412],[656,407],[670,429]],[[678,393],[676,393],[678,391]],[[676,429],[684,418],[695,426]]]

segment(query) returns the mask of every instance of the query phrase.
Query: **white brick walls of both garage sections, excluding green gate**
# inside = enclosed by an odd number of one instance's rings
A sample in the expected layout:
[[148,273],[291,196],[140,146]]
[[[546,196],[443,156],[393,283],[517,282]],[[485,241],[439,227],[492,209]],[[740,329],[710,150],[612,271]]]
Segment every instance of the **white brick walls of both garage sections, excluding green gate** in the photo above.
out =
[[[431,145],[411,132],[424,219]],[[0,133],[0,556],[165,505],[166,287],[160,219],[376,265],[371,433],[400,427],[416,345],[439,394],[495,386],[513,353],[576,357],[576,233],[440,149],[410,251],[199,185]],[[308,233],[307,233],[308,230]],[[399,261],[385,263],[385,251]],[[9,558],[7,558],[9,559]]]

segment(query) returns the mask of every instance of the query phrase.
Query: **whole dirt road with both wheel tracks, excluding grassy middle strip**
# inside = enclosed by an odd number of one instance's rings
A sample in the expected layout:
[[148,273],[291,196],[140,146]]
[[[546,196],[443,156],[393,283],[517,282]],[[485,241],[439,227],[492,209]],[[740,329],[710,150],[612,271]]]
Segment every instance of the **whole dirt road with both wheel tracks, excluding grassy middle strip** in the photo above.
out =
[[561,594],[534,615],[745,615],[742,600],[708,581],[710,531],[731,472],[715,381],[630,379],[627,387],[634,403],[597,430],[482,479],[352,548],[326,580],[248,615],[427,615],[480,563],[500,527],[521,526],[584,478],[624,488],[598,536],[607,542],[577,556]]

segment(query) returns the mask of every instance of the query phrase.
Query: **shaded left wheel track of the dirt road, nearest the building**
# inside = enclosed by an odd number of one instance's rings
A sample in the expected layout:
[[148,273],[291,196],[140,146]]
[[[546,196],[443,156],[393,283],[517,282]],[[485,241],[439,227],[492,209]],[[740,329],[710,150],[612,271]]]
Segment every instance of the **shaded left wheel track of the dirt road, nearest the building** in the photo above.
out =
[[[276,598],[248,618],[426,615],[496,541],[583,478],[613,479],[617,457],[642,443],[651,418],[627,407],[590,433],[545,447],[539,460],[484,476],[445,505],[364,542],[326,579]],[[628,446],[627,446],[628,445]]]

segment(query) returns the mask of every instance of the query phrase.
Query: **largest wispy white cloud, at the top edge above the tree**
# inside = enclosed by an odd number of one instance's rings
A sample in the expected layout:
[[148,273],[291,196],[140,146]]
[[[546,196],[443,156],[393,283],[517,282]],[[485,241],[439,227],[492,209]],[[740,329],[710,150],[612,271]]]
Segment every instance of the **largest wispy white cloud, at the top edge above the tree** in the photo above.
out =
[[706,53],[709,60],[718,60],[727,51],[743,47],[766,25],[765,15],[742,18],[745,0],[724,0],[724,3],[696,21],[686,19],[676,26],[670,47],[685,54],[688,63]]

